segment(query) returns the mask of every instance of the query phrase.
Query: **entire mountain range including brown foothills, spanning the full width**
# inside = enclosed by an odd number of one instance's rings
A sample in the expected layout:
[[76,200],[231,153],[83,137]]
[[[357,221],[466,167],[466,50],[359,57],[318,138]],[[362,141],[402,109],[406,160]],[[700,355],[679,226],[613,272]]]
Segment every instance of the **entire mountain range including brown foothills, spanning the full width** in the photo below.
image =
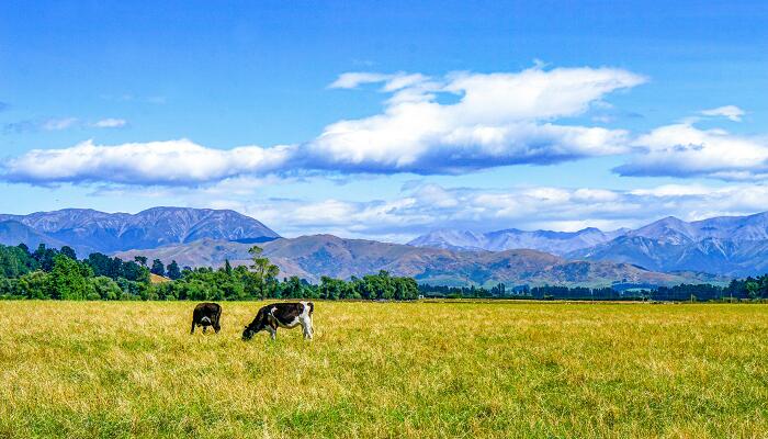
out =
[[[316,281],[387,270],[443,284],[613,282],[668,284],[724,281],[768,271],[768,213],[685,222],[659,219],[636,229],[578,232],[437,230],[408,245],[331,235],[281,238],[228,210],[153,207],[137,214],[66,209],[0,215],[0,244],[70,246],[144,255],[182,266],[247,263],[259,243],[283,275]],[[711,274],[704,274],[711,273]]]

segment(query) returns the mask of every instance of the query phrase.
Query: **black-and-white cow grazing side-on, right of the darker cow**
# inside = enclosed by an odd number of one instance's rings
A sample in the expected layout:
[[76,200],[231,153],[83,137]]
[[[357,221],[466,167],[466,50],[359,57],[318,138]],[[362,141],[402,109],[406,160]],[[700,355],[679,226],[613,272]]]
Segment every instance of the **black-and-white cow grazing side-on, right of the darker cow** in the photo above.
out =
[[315,311],[315,304],[312,302],[298,303],[273,303],[262,306],[256,314],[256,318],[250,325],[246,326],[242,331],[242,339],[250,340],[253,335],[262,329],[266,329],[272,339],[278,336],[278,328],[295,328],[302,325],[304,329],[304,338],[312,339],[312,313]]

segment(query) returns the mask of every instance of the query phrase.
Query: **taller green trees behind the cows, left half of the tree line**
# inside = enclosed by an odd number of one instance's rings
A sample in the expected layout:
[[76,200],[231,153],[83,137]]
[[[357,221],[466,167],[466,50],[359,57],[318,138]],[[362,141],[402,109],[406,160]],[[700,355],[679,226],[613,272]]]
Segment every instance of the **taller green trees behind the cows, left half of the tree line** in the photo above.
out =
[[[349,281],[320,278],[313,284],[298,277],[279,279],[280,270],[251,247],[250,266],[179,268],[159,259],[148,263],[146,257],[123,261],[94,252],[79,260],[75,250],[64,246],[47,248],[0,245],[0,299],[52,300],[414,300],[418,285],[411,278],[391,275],[386,271],[353,277]],[[153,282],[150,273],[163,278]]]

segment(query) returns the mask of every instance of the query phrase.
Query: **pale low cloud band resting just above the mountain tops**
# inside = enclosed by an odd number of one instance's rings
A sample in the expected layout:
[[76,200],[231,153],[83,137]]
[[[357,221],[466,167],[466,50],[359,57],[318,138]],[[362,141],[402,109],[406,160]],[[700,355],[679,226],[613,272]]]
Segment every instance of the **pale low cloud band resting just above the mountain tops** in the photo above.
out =
[[765,184],[678,184],[624,191],[558,187],[481,190],[428,183],[389,200],[244,199],[222,205],[250,214],[284,236],[331,233],[405,243],[440,228],[611,230],[639,227],[668,215],[686,221],[746,215],[766,210],[767,199]]

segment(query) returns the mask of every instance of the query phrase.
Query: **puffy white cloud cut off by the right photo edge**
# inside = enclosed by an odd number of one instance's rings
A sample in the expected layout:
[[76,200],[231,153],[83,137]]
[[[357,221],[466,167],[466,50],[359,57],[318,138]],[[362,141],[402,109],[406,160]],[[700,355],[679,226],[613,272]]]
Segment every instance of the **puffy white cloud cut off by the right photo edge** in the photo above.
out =
[[768,178],[768,139],[701,130],[691,122],[662,126],[637,137],[639,154],[614,168],[621,176]]

